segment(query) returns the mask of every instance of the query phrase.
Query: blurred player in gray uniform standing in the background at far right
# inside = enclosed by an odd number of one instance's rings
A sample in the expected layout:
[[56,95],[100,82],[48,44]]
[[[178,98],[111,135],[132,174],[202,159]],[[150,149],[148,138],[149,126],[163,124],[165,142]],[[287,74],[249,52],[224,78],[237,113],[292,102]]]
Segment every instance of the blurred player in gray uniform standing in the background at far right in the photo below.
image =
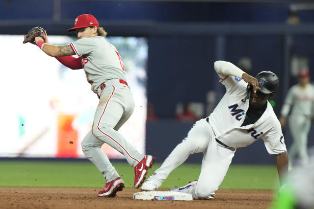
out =
[[314,85],[309,82],[309,73],[307,71],[300,72],[299,83],[289,89],[281,110],[279,121],[284,127],[288,117],[289,130],[293,138],[289,149],[289,168],[292,167],[297,154],[302,164],[309,161],[307,143],[314,108]]

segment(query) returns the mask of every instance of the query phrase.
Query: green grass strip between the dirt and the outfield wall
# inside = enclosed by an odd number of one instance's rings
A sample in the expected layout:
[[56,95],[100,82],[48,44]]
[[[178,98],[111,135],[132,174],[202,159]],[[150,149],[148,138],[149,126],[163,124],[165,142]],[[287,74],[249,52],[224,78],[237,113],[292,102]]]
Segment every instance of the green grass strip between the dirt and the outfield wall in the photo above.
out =
[[[112,163],[132,188],[134,169],[127,163]],[[148,176],[159,168],[155,163]],[[198,179],[200,164],[185,163],[175,169],[160,188],[184,186]],[[209,179],[210,181],[210,179]],[[105,180],[99,170],[90,162],[53,161],[1,161],[0,186],[11,187],[95,187],[104,186]],[[275,189],[279,187],[274,165],[231,165],[220,186],[225,189]]]

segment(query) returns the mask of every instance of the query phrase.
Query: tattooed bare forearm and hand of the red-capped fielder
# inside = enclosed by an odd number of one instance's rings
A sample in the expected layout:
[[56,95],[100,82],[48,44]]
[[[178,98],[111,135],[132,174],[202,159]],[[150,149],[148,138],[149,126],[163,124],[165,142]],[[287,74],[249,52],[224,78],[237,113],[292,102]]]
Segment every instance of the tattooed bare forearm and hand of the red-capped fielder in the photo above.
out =
[[[36,44],[38,41],[43,41],[43,39],[41,37],[36,37],[35,38]],[[75,55],[75,52],[72,50],[70,45],[56,46],[56,45],[46,44],[43,47],[43,51],[52,57],[63,57],[63,56]]]

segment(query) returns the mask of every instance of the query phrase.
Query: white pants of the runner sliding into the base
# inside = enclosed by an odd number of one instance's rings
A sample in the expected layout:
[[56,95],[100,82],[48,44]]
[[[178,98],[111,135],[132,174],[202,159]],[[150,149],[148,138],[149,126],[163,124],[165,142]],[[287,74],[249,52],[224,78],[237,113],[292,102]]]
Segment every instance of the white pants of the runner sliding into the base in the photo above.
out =
[[194,124],[187,137],[174,148],[154,176],[161,181],[165,180],[190,154],[199,152],[203,152],[204,157],[198,184],[188,192],[194,199],[210,196],[222,183],[235,149],[225,148],[216,142],[215,134],[206,119]]

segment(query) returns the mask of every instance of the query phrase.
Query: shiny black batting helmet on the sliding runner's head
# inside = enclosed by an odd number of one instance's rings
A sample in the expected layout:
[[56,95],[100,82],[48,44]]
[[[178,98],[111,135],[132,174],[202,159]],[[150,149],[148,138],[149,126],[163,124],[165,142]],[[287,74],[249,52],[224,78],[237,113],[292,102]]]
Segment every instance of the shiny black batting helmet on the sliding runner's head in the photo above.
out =
[[259,81],[259,87],[262,93],[275,93],[278,85],[279,79],[277,75],[271,71],[262,71],[256,75]]

